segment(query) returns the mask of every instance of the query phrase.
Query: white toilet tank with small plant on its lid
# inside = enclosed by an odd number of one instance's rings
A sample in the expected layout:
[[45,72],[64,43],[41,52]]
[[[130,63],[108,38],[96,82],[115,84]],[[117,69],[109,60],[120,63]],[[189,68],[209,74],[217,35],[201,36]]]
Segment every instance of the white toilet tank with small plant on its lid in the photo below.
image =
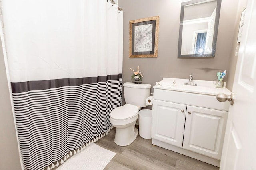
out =
[[151,84],[124,83],[124,100],[126,104],[146,107],[146,98],[150,96]]

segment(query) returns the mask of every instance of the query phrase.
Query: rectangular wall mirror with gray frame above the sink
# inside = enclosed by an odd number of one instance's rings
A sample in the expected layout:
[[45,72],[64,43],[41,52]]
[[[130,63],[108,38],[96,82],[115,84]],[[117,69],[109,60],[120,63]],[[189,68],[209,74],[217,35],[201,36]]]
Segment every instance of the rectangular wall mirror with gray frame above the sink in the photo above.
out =
[[192,0],[181,4],[179,58],[214,57],[221,0]]

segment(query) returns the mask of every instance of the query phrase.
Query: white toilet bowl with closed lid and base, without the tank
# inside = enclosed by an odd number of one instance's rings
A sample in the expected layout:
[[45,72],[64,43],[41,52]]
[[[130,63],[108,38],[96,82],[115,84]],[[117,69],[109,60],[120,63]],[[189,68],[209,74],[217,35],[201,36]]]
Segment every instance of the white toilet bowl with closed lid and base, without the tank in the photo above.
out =
[[113,109],[110,113],[110,123],[116,127],[114,142],[119,146],[130,145],[138,136],[135,128],[138,119],[138,107],[132,104]]

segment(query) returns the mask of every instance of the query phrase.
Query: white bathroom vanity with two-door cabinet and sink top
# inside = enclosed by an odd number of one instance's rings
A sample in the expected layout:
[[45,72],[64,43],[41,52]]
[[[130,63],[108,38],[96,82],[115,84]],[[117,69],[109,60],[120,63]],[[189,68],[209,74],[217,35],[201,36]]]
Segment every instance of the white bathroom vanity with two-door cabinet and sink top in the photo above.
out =
[[[154,86],[152,144],[220,166],[229,102],[219,102],[212,81],[163,78],[173,86]],[[170,83],[168,83],[170,82]]]

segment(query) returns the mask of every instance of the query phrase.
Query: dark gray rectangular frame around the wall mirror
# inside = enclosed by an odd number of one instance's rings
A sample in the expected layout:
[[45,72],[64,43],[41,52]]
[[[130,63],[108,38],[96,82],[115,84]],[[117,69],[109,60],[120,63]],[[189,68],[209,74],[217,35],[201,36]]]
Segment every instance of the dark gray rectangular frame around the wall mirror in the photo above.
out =
[[205,0],[192,0],[192,1],[181,3],[178,58],[214,58],[215,57],[217,34],[218,34],[218,27],[219,27],[219,20],[220,20],[221,0],[217,0],[216,19],[215,19],[215,24],[214,24],[214,37],[213,37],[213,43],[212,43],[212,53],[210,53],[210,54],[186,54],[186,55],[181,55],[184,6],[188,5],[188,4],[194,4],[194,3],[202,2],[202,1],[205,1]]

